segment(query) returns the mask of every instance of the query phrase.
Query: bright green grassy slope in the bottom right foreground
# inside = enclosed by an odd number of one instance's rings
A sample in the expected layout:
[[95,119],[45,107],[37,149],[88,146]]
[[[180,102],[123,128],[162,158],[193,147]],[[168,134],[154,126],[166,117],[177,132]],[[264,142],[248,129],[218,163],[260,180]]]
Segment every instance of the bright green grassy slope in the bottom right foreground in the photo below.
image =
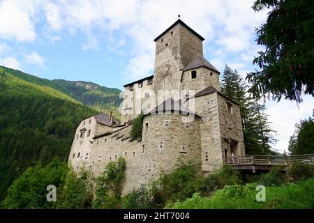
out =
[[314,198],[314,178],[298,184],[266,187],[266,201],[257,202],[256,183],[244,185],[226,185],[211,197],[193,197],[186,201],[169,203],[165,208],[173,209],[265,209],[265,208],[311,208]]

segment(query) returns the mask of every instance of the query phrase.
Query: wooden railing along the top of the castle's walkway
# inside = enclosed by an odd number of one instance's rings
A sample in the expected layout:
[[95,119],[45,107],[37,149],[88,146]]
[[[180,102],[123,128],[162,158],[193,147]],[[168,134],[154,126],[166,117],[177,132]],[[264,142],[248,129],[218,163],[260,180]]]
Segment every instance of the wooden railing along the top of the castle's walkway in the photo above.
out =
[[232,166],[239,165],[274,165],[288,166],[294,162],[314,164],[314,154],[306,155],[245,155],[227,157],[225,164]]

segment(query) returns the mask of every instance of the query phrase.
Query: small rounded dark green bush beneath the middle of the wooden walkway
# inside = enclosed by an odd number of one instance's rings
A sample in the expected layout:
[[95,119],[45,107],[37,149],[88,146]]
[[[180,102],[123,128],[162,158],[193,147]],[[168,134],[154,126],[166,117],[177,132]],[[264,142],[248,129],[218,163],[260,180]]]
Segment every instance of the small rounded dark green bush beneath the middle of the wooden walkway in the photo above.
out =
[[261,174],[257,180],[258,184],[264,186],[280,186],[285,183],[285,173],[280,167],[273,167],[267,174]]

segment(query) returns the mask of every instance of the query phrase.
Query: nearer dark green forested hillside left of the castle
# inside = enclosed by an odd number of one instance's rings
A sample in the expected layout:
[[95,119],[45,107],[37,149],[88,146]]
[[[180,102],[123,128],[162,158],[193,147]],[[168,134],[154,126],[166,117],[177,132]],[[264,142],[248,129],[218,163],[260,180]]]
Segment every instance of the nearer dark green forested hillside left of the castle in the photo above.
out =
[[77,123],[98,113],[49,80],[17,76],[0,68],[0,199],[27,167],[54,157],[65,162]]

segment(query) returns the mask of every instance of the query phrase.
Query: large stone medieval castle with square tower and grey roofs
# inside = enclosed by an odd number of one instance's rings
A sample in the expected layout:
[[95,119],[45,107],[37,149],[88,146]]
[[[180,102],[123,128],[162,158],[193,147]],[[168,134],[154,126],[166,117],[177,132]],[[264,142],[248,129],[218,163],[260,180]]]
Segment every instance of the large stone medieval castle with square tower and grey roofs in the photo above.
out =
[[[154,75],[124,86],[121,123],[100,113],[77,127],[69,155],[75,171],[98,176],[124,157],[127,194],[173,169],[179,157],[201,163],[207,173],[232,153],[245,155],[239,105],[220,93],[220,73],[204,59],[203,40],[180,19],[154,40]],[[142,137],[132,139],[141,112]]]

